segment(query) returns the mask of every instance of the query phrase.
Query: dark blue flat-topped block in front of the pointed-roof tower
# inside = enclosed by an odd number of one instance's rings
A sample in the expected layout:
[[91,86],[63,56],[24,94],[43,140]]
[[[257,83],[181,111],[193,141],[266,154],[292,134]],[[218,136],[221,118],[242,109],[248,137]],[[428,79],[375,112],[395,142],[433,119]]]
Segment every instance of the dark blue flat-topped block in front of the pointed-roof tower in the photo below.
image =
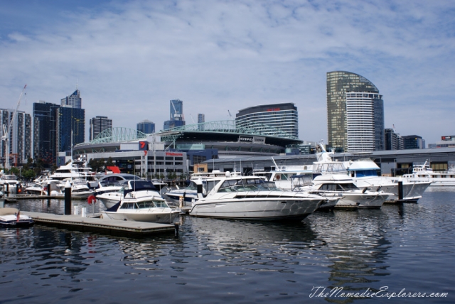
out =
[[85,109],[73,107],[57,108],[56,121],[57,152],[71,151],[73,146],[85,141]]

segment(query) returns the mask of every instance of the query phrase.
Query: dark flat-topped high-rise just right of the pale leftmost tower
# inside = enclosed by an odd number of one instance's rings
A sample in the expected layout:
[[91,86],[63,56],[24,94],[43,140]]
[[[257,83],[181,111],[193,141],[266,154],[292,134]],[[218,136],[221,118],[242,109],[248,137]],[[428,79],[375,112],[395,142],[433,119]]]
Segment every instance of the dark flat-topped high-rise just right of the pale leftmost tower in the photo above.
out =
[[57,159],[56,121],[58,104],[42,100],[33,103],[33,158],[54,164]]

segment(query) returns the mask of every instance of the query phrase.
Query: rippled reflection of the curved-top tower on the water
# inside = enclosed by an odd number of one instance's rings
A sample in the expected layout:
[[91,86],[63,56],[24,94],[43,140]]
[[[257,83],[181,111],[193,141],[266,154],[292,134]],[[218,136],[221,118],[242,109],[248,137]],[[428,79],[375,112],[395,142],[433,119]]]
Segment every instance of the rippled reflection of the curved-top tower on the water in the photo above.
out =
[[380,288],[377,282],[389,276],[387,259],[391,243],[385,237],[388,221],[382,210],[319,213],[311,225],[326,244],[328,290],[365,291]]

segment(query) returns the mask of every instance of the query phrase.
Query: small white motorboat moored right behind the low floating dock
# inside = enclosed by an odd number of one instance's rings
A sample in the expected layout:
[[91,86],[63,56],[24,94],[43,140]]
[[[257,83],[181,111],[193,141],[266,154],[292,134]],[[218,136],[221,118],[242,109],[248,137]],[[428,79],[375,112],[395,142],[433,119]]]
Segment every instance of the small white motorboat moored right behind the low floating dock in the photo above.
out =
[[[102,218],[137,222],[172,224],[180,215],[180,210],[172,209],[151,182],[149,187],[125,190],[124,197],[111,208],[102,211]],[[153,188],[151,188],[153,187]]]

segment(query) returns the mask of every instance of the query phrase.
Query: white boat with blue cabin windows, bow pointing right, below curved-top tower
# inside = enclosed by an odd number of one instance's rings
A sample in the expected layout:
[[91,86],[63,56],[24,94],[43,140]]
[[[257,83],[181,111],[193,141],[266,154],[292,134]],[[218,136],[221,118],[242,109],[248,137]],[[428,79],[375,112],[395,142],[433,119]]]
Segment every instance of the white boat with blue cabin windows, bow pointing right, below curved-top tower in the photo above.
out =
[[411,180],[402,177],[380,176],[380,168],[371,159],[345,162],[348,174],[360,189],[382,190],[391,193],[387,201],[417,202],[431,184],[430,180]]

